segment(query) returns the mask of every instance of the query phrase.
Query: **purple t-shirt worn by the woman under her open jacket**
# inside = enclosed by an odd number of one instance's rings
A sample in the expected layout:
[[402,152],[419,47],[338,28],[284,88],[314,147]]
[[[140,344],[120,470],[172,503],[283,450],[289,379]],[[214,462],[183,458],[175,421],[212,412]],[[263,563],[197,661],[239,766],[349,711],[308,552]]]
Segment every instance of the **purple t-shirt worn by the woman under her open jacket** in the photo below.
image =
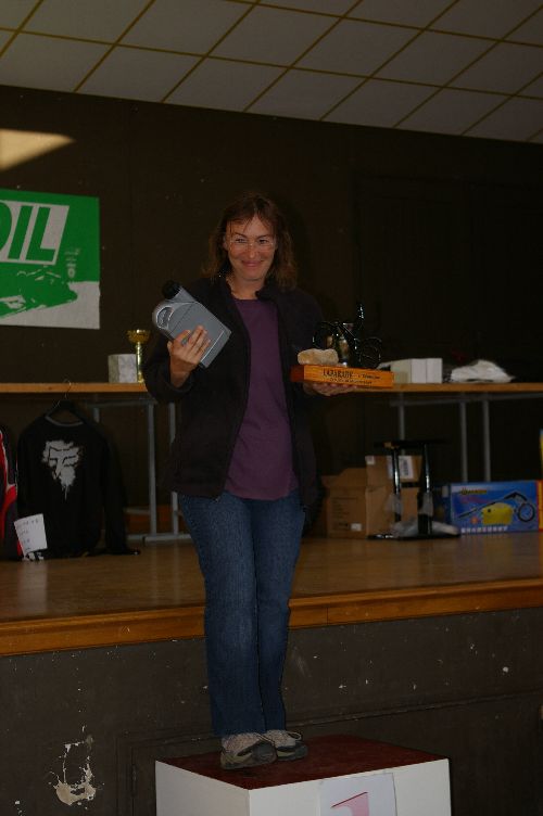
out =
[[236,299],[251,339],[249,398],[226,480],[248,499],[278,499],[298,486],[282,381],[277,310],[267,301]]

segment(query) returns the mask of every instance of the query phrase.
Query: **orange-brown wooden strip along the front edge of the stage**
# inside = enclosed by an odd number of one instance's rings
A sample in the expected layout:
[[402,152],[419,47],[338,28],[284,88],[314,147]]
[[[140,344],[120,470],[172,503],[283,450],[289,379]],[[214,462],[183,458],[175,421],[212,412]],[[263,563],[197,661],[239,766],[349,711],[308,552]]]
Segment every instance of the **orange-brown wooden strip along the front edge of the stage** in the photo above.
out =
[[[394,592],[353,592],[291,602],[291,628],[397,621],[543,605],[543,582],[517,581]],[[203,607],[0,623],[0,655],[203,637]]]

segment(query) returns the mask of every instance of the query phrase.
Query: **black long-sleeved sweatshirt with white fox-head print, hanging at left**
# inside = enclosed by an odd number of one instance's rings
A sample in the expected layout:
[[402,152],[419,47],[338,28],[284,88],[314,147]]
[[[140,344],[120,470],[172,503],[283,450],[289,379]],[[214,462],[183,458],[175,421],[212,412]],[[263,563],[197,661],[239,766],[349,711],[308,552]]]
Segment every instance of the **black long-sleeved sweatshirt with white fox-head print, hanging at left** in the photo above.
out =
[[43,415],[18,439],[18,513],[43,513],[49,557],[92,552],[102,522],[105,548],[126,547],[124,489],[111,444],[80,416],[59,422]]

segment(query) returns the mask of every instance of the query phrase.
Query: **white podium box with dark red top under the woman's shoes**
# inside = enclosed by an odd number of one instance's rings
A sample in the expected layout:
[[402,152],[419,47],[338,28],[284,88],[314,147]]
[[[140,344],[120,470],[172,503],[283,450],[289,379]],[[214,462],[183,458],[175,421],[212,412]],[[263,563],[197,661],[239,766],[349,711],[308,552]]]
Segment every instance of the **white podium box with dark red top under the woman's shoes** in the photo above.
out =
[[308,756],[222,770],[218,753],[156,762],[156,816],[451,816],[449,762],[351,736]]

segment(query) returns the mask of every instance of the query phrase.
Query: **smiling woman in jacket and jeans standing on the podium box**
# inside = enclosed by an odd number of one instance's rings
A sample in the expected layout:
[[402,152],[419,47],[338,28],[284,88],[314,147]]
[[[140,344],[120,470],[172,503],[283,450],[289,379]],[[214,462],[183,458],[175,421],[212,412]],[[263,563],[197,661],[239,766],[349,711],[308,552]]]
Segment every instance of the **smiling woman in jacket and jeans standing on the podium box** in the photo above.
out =
[[144,365],[149,392],[181,404],[169,483],[205,582],[212,722],[224,768],[298,760],[281,677],[289,596],[305,508],[317,498],[307,404],[352,390],[293,384],[289,372],[321,320],[296,289],[292,241],[269,199],[248,193],[210,237],[203,277],[186,286],[231,331],[207,368],[201,326],[160,336]]

